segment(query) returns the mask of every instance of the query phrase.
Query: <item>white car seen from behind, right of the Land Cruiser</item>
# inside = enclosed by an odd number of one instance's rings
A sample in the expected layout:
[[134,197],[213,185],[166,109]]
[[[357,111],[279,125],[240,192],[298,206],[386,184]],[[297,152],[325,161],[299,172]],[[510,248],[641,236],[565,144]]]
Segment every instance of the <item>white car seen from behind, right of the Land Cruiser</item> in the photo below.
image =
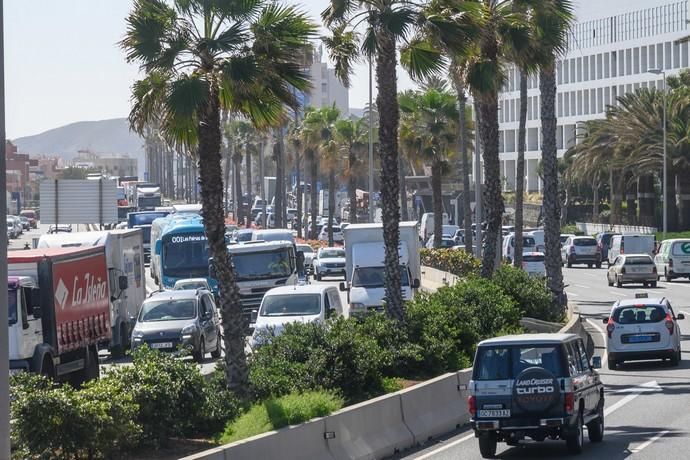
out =
[[665,297],[619,300],[606,324],[606,352],[609,369],[615,370],[625,361],[668,359],[677,366],[681,360],[681,332],[675,314]]

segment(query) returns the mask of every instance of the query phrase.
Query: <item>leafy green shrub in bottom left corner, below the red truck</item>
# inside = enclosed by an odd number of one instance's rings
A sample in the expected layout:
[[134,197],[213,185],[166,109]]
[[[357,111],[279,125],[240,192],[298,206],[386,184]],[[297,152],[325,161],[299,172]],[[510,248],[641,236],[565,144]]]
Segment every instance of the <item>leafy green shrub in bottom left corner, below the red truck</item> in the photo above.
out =
[[141,434],[131,395],[104,381],[75,390],[27,374],[12,380],[11,412],[20,458],[112,457],[135,446]]

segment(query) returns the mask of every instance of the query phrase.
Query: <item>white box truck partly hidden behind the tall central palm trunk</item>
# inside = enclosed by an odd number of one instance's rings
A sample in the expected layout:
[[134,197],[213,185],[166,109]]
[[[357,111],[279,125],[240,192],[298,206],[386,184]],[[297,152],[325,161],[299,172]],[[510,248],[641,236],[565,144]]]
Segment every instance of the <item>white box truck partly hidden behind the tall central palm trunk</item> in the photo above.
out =
[[[345,282],[350,314],[381,310],[385,297],[385,249],[381,224],[352,224],[345,237]],[[419,287],[419,231],[417,222],[400,222],[400,281],[404,300]]]

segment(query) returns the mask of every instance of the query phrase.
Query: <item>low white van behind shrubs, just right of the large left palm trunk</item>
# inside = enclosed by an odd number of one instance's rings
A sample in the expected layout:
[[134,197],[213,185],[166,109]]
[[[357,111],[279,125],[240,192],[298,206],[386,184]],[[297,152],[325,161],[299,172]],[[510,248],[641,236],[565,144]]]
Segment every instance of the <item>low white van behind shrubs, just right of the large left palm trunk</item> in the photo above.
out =
[[264,294],[251,338],[252,347],[283,332],[288,323],[323,323],[342,315],[338,288],[327,284],[281,286]]

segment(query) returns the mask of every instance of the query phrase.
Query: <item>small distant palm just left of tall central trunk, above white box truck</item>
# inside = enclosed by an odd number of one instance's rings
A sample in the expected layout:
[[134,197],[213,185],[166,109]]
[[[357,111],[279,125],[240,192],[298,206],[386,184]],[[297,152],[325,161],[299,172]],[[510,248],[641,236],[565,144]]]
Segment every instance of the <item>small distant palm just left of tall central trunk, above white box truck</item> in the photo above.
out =
[[357,223],[357,177],[361,174],[361,158],[366,153],[369,142],[367,120],[338,120],[335,124],[336,138],[347,155],[347,196],[350,203],[350,223]]

